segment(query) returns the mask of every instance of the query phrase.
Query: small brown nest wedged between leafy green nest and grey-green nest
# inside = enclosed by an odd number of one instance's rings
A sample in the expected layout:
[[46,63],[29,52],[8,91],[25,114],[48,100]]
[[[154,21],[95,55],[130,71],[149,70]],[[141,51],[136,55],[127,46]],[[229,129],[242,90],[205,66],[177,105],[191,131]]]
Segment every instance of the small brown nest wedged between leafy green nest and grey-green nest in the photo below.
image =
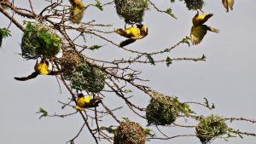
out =
[[67,50],[61,57],[61,68],[68,70],[65,74],[71,74],[81,61],[79,55],[74,50]]

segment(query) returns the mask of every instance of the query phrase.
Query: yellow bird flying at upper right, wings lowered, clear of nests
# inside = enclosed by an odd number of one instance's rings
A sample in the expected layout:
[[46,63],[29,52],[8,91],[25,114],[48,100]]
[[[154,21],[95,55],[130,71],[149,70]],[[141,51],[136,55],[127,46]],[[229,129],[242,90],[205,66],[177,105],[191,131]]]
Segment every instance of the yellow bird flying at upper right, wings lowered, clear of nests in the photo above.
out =
[[205,22],[207,22],[208,19],[212,17],[213,14],[205,14],[202,12],[202,14],[197,13],[192,19],[193,26],[191,27],[190,31],[190,39],[193,45],[201,43],[201,40],[205,35],[207,34],[207,31],[210,32],[219,32],[218,29],[203,25]]

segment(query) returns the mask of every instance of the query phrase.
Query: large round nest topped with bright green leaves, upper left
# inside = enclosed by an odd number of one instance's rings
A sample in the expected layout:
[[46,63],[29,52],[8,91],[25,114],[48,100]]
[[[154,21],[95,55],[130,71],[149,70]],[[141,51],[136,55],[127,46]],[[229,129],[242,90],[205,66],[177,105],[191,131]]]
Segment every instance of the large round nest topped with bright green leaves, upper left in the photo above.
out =
[[53,57],[61,49],[61,37],[49,26],[26,22],[20,46],[22,57],[26,60],[37,59],[40,55]]

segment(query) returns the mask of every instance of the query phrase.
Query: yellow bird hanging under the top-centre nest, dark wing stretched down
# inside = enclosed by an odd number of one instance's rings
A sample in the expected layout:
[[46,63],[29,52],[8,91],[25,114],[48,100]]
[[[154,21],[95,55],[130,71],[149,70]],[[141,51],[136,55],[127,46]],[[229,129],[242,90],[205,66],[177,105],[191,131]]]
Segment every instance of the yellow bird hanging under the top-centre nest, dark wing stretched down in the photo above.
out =
[[119,44],[120,47],[134,43],[137,39],[142,39],[148,35],[148,27],[143,24],[137,24],[136,27],[131,26],[129,28],[121,29],[119,28],[116,33],[120,36],[127,37],[125,41]]

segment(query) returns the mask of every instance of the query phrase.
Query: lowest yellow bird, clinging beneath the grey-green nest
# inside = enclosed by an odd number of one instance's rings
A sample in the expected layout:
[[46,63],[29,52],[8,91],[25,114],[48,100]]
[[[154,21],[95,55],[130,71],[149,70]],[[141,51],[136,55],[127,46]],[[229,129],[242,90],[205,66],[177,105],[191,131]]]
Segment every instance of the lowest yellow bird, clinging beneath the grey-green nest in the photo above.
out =
[[100,96],[96,96],[95,98],[91,99],[90,95],[84,96],[83,94],[79,94],[76,101],[77,104],[74,106],[74,108],[81,111],[84,110],[84,108],[98,107],[99,103],[102,102],[102,98]]

